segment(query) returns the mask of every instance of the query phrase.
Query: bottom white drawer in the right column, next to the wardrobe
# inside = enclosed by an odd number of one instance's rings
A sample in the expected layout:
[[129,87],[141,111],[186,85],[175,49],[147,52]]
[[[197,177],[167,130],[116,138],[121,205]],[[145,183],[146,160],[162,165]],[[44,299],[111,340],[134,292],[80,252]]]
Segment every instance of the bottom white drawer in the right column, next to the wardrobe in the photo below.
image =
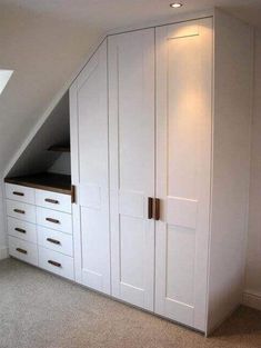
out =
[[73,258],[39,247],[39,267],[74,280]]

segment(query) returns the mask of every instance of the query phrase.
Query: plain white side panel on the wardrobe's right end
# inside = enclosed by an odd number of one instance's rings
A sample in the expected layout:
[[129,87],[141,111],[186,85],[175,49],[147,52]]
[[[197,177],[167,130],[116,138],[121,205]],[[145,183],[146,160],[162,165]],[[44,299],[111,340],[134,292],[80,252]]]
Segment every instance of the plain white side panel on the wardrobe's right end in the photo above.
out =
[[252,99],[251,28],[221,11],[214,26],[209,331],[242,297]]

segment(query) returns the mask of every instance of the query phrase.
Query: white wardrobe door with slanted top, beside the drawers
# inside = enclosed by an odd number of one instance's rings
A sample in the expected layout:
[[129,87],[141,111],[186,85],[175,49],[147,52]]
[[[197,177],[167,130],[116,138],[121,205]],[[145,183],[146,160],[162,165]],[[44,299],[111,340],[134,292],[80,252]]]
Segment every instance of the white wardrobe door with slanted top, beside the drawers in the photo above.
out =
[[107,40],[70,89],[76,279],[110,294]]

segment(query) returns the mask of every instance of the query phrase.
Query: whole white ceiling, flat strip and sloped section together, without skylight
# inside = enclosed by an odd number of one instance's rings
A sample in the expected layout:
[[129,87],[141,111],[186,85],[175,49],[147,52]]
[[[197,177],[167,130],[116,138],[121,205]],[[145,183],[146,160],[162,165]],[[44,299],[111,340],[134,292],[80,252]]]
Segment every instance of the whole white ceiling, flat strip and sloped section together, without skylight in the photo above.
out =
[[91,47],[113,28],[213,6],[261,28],[261,1],[0,0],[0,68],[14,73],[0,96],[0,175]]

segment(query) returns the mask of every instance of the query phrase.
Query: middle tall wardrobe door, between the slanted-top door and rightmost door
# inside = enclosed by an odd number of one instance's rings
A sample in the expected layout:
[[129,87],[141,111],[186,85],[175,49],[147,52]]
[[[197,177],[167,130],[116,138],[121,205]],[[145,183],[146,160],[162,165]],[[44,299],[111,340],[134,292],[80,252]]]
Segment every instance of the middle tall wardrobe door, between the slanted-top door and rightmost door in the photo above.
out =
[[154,30],[109,38],[112,295],[153,309]]

